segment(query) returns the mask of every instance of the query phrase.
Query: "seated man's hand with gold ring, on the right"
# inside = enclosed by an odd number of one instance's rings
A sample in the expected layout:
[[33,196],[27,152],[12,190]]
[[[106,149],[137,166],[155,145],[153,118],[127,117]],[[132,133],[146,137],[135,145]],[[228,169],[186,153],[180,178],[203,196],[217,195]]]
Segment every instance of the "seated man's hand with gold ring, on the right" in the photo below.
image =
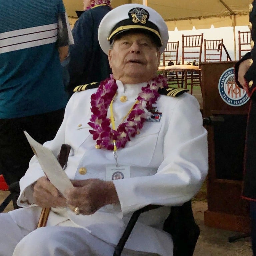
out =
[[93,214],[107,204],[118,203],[114,183],[99,179],[73,180],[74,188],[65,192],[69,207],[80,208],[81,214]]

